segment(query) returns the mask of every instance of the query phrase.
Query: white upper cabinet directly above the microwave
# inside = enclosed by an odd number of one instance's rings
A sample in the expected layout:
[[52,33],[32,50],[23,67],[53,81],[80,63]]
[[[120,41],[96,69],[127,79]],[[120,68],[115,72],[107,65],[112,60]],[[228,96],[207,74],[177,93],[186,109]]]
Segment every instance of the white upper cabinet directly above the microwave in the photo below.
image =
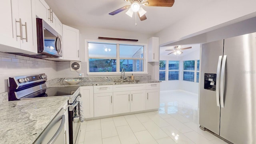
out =
[[44,0],[36,0],[36,16],[46,21],[56,32],[62,34],[62,23]]

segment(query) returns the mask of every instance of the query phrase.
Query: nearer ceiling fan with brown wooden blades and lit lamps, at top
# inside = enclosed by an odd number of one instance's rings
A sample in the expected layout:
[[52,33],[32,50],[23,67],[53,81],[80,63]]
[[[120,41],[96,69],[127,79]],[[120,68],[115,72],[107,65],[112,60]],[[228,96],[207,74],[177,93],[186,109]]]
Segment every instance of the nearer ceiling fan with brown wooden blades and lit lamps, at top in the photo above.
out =
[[140,18],[140,20],[146,20],[146,11],[141,7],[144,6],[164,6],[164,7],[171,7],[174,4],[174,0],[124,0],[126,2],[130,2],[131,5],[126,5],[122,8],[119,8],[113,12],[110,12],[110,15],[118,14],[129,8],[126,14],[132,17],[133,12],[136,12]]

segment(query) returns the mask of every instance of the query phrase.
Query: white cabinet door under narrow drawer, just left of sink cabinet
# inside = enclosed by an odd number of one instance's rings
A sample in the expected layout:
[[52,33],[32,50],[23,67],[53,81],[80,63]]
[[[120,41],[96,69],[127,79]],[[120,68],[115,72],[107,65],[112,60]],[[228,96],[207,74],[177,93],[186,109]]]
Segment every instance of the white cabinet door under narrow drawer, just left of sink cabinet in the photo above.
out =
[[94,116],[113,114],[113,92],[94,94]]

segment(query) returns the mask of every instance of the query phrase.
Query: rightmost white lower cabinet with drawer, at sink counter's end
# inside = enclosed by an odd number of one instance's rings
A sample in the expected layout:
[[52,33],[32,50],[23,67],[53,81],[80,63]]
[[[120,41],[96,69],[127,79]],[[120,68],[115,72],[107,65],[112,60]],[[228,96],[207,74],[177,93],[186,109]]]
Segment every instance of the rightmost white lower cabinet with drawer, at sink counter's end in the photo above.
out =
[[146,110],[159,108],[160,84],[146,84]]

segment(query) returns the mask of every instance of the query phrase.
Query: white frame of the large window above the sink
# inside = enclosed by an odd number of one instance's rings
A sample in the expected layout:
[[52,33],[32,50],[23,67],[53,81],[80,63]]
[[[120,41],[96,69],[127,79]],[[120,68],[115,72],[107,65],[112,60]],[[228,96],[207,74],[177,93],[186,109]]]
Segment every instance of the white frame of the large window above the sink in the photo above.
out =
[[[89,67],[89,59],[96,58],[96,57],[89,57],[89,49],[88,43],[100,43],[100,44],[116,44],[116,58],[109,58],[109,57],[100,57],[100,59],[116,59],[116,72],[90,72]],[[121,45],[131,45],[131,46],[144,46],[143,48],[143,58],[120,58],[120,44]],[[120,59],[131,59],[131,60],[143,60],[143,71],[142,72],[125,72],[126,74],[148,74],[148,57],[147,57],[147,48],[148,45],[144,43],[135,43],[135,42],[120,42],[120,41],[107,41],[107,40],[84,40],[84,47],[85,47],[85,62],[87,62],[87,76],[114,76],[120,75]],[[98,57],[97,57],[98,58]]]

